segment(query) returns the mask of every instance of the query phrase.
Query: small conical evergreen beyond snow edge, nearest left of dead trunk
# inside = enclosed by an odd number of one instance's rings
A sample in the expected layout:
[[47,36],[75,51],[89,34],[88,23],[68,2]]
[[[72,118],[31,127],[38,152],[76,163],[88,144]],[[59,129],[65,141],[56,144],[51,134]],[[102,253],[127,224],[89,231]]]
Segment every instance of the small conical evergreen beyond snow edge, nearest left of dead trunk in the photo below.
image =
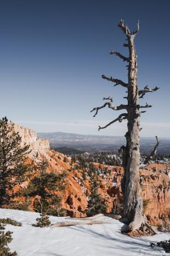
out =
[[98,192],[100,181],[96,174],[90,177],[90,195],[88,201],[88,209],[85,211],[87,216],[94,216],[95,214],[105,213],[107,206],[104,205],[104,199],[100,197]]

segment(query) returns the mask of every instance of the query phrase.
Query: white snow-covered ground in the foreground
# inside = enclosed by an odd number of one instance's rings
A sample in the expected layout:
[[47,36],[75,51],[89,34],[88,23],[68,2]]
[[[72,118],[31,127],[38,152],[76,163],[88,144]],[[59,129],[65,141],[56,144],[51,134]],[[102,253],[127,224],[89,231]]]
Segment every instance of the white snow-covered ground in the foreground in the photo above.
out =
[[[101,225],[80,225],[69,227],[32,227],[39,214],[28,211],[0,209],[0,217],[10,217],[22,222],[22,227],[7,225],[13,231],[11,250],[19,256],[162,256],[168,255],[161,248],[148,247],[151,241],[170,239],[170,233],[152,237],[132,238],[121,233],[123,224],[110,217],[98,220],[108,221]],[[52,223],[65,217],[50,216]]]

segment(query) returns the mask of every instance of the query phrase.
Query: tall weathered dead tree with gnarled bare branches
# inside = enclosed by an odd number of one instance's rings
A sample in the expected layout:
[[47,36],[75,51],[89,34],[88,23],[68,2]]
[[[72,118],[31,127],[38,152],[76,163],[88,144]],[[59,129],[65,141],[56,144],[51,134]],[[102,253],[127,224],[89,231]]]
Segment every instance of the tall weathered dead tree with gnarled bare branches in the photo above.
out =
[[[116,85],[121,85],[126,88],[127,105],[114,106],[112,97],[104,97],[103,100],[107,100],[103,106],[95,107],[92,111],[95,111],[94,117],[98,111],[108,106],[112,110],[124,110],[117,118],[115,118],[109,124],[104,127],[99,126],[100,129],[104,129],[115,122],[122,122],[123,119],[127,119],[128,131],[125,135],[126,146],[122,146],[123,159],[124,159],[124,176],[122,181],[122,192],[124,197],[124,211],[123,215],[129,221],[128,231],[137,230],[141,225],[147,224],[146,217],[143,215],[143,200],[140,198],[140,184],[139,184],[139,164],[140,164],[140,151],[139,151],[139,131],[140,131],[140,115],[146,111],[141,111],[141,108],[152,107],[151,105],[140,105],[139,99],[143,98],[146,92],[154,92],[159,88],[156,86],[154,89],[150,89],[149,86],[145,86],[143,90],[138,90],[137,85],[137,54],[135,52],[134,39],[139,31],[139,22],[137,24],[137,30],[131,32],[128,26],[125,26],[123,20],[120,21],[118,27],[124,32],[127,37],[127,43],[124,43],[124,47],[128,48],[129,56],[124,57],[119,52],[110,51],[110,55],[117,55],[123,61],[127,62],[128,69],[128,82],[124,83],[120,79],[113,77],[106,77],[102,75],[103,79],[111,81]],[[92,112],[91,111],[91,112]],[[154,232],[154,231],[153,231]]]

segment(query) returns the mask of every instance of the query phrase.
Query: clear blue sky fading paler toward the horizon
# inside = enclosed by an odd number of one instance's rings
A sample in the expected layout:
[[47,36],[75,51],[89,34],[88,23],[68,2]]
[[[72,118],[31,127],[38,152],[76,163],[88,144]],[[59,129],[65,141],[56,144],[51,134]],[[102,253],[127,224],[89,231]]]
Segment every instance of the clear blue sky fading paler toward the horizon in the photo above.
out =
[[101,75],[127,81],[126,63],[108,52],[126,55],[118,21],[133,30],[139,19],[138,85],[160,86],[142,100],[153,107],[141,118],[141,136],[170,137],[169,7],[168,0],[1,1],[1,117],[37,132],[124,135],[126,122],[98,132],[117,111],[105,108],[95,118],[89,111],[107,96],[126,103],[124,88]]

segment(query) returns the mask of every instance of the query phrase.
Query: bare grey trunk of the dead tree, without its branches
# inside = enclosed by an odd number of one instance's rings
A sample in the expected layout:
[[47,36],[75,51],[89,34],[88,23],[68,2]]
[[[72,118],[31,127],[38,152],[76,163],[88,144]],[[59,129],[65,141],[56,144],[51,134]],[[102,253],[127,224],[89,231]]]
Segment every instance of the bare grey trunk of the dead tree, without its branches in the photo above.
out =
[[139,184],[139,95],[137,86],[137,55],[135,53],[134,36],[128,36],[129,66],[128,66],[128,132],[126,133],[126,163],[124,167],[123,195],[124,216],[131,224],[129,231],[133,231],[143,223],[143,201],[140,198]]

